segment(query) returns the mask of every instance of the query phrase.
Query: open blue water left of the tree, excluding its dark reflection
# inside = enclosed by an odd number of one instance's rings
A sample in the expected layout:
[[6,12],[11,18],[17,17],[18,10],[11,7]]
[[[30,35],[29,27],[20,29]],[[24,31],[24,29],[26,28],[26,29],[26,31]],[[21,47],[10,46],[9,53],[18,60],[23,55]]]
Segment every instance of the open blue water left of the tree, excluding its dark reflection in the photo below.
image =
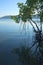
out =
[[18,57],[11,53],[13,48],[30,47],[35,33],[30,23],[21,25],[10,18],[0,19],[0,65],[20,65]]

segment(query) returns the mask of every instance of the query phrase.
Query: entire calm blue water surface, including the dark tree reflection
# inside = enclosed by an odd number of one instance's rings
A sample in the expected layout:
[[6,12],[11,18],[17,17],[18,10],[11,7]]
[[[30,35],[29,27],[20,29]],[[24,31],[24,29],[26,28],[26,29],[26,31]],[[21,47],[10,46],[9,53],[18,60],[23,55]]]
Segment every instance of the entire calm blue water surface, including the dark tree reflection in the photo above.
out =
[[0,20],[0,65],[38,65],[42,63],[42,48],[43,36],[35,32],[30,23],[20,25],[11,19]]

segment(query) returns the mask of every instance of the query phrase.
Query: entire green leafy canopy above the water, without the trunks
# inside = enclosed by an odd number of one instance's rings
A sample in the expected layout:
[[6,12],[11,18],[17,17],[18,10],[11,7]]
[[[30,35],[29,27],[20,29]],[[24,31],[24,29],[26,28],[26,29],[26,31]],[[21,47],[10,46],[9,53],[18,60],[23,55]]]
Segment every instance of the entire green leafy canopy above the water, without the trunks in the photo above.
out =
[[[40,6],[42,2],[43,0],[26,0],[26,3],[18,3],[19,15],[12,17],[12,19],[14,19],[17,23],[20,22],[20,19],[23,22],[26,22],[27,20],[32,18],[33,14],[35,14],[35,10],[37,10],[38,12],[38,10],[41,8]],[[40,15],[43,18],[42,14]]]

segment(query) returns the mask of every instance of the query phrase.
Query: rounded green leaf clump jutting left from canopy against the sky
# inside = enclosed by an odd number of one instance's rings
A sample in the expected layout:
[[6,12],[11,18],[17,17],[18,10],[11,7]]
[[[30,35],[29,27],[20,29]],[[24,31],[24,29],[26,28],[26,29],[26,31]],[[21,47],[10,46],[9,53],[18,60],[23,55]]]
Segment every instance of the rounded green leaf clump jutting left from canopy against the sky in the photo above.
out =
[[31,18],[33,11],[26,4],[18,3],[19,15],[22,21],[26,22]]

